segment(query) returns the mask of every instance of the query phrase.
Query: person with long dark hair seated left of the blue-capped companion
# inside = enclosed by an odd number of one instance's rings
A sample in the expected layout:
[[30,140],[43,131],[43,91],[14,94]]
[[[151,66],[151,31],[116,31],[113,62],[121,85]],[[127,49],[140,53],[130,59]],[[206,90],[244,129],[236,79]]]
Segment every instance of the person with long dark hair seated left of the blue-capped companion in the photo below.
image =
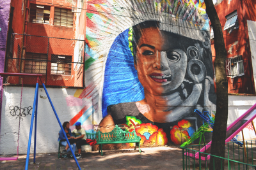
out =
[[[72,136],[71,130],[69,129],[69,122],[64,122],[62,127],[67,135],[70,145],[72,146],[72,150],[75,153],[76,152],[76,139],[74,139],[74,136]],[[61,130],[59,132],[58,141],[61,141],[61,145],[66,146],[65,150],[61,151],[61,153],[63,153],[62,157],[67,158],[67,153],[70,151],[70,148],[68,148],[68,143],[66,141],[65,135],[64,135],[63,131],[61,131]],[[73,155],[71,154],[70,157],[73,157]]]

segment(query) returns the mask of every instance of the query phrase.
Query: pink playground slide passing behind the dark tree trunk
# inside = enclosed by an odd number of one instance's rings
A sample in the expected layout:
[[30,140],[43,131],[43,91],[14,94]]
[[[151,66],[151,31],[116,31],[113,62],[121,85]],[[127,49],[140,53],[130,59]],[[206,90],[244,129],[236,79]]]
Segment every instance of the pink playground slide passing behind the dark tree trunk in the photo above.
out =
[[[240,131],[246,127],[246,125],[250,124],[253,119],[256,117],[256,104],[252,106],[249,110],[247,110],[241,117],[237,118],[235,122],[227,127],[226,134],[226,142],[229,142],[234,136],[236,136]],[[209,142],[208,144],[211,144]],[[206,145],[204,148],[200,150],[200,152],[207,152],[211,149],[211,145]],[[188,154],[188,153],[185,153]],[[193,157],[193,153],[189,153],[189,156]],[[199,159],[199,153],[195,153],[195,158]],[[201,157],[202,160],[206,160],[206,157]],[[210,159],[210,155],[207,156],[207,160]]]

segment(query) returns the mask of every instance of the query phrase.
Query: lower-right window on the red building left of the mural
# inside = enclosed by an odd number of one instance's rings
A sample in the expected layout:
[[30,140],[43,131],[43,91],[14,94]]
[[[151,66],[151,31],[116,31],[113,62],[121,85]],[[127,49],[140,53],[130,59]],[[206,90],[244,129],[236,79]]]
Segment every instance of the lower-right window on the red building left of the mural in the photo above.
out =
[[72,56],[52,55],[51,74],[71,75]]

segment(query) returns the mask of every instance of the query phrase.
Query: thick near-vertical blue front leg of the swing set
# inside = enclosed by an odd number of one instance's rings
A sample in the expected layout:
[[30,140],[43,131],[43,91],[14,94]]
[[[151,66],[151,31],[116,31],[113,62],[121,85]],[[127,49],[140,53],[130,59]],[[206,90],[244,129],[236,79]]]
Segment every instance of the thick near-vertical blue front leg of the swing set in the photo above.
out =
[[32,116],[31,116],[31,124],[30,124],[30,131],[29,131],[28,150],[27,150],[25,170],[28,170],[29,152],[30,152],[30,145],[31,145],[31,138],[32,138],[32,131],[33,131],[33,123],[34,123],[34,116],[35,116],[37,93],[38,93],[38,83],[36,83],[36,91],[35,91],[35,97],[34,97],[34,103],[33,103],[33,111],[32,111]]

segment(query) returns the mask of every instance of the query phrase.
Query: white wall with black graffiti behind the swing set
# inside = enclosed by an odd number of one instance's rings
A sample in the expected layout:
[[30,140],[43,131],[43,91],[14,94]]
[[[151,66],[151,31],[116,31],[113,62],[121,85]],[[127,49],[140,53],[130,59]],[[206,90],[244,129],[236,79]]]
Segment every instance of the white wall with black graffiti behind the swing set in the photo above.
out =
[[[17,152],[17,132],[19,131],[19,117],[10,114],[10,106],[20,106],[20,87],[4,87],[3,105],[1,115],[1,138],[0,138],[0,154],[8,155]],[[92,98],[79,99],[74,97],[76,89],[56,89],[48,88],[54,108],[58,113],[61,124],[70,121],[84,106],[92,106]],[[23,87],[22,108],[33,107],[33,98],[35,96],[35,88]],[[43,88],[39,88],[38,94],[38,124],[36,133],[36,153],[51,153],[58,151],[58,132],[60,126],[52,111],[51,104]],[[16,111],[19,114],[19,111]],[[32,114],[32,110],[30,111]],[[93,129],[92,122],[99,124],[102,119],[99,113],[92,108],[88,109],[88,117],[83,120],[83,127],[86,130]],[[29,128],[31,123],[31,115],[22,117],[20,121],[20,141],[19,153],[27,152]],[[34,121],[35,122],[35,121]],[[34,131],[33,127],[33,131]],[[70,129],[74,129],[74,126]],[[31,141],[31,151],[33,153],[34,133]]]

